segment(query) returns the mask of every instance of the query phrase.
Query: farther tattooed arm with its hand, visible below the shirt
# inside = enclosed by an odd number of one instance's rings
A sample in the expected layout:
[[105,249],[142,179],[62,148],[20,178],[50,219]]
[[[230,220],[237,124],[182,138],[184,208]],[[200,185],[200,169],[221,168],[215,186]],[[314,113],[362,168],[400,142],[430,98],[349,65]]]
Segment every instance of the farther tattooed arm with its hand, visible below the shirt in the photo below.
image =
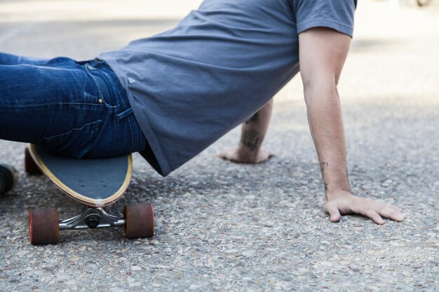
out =
[[261,147],[269,127],[272,109],[273,99],[243,124],[239,145],[222,151],[218,154],[219,158],[238,163],[259,163],[273,156]]

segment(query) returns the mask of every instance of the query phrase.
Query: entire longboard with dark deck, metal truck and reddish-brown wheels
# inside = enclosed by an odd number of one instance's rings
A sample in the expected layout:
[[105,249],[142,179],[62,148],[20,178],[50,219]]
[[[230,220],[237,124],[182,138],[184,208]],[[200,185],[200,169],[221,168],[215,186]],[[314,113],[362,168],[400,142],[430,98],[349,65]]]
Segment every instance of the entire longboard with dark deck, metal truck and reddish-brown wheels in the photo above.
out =
[[123,227],[129,239],[154,236],[154,209],[150,203],[128,204],[123,217],[104,211],[119,200],[130,185],[133,158],[74,159],[52,155],[30,144],[25,151],[28,174],[45,174],[57,188],[73,200],[84,204],[81,213],[60,221],[57,209],[29,211],[31,244],[55,244],[60,230]]

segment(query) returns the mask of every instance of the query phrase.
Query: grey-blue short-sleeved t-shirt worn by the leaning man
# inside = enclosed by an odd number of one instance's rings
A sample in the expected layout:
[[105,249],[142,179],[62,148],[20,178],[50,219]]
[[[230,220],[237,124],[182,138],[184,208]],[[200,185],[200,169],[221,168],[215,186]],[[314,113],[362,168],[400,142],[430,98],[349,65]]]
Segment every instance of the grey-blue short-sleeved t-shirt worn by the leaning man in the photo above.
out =
[[297,74],[300,32],[352,36],[355,8],[355,0],[205,0],[168,32],[98,57],[126,88],[151,165],[166,176]]

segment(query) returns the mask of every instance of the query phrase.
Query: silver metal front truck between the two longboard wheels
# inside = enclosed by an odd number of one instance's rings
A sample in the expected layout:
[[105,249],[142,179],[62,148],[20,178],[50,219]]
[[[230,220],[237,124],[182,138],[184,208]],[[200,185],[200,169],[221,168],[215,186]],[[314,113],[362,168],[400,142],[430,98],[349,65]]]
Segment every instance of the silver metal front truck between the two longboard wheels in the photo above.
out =
[[60,221],[60,230],[123,227],[125,224],[125,218],[108,214],[102,208],[84,206],[79,215]]

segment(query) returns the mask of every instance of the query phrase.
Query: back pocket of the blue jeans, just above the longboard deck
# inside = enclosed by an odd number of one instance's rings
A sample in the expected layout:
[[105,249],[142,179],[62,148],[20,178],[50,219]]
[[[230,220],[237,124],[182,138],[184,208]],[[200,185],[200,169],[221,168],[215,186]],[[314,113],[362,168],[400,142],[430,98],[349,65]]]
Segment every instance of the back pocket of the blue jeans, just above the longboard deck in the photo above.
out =
[[46,137],[38,145],[55,155],[83,158],[95,144],[101,125],[102,120],[97,120],[63,134]]

